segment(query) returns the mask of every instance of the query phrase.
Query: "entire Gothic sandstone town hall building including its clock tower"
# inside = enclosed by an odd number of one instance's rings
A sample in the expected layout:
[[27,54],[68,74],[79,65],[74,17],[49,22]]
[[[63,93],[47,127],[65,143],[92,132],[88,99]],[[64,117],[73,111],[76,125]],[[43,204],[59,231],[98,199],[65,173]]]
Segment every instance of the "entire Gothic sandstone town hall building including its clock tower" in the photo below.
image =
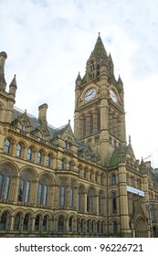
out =
[[75,81],[73,129],[49,125],[47,103],[37,118],[16,108],[5,59],[0,52],[0,237],[158,237],[158,169],[126,141],[123,82],[100,34]]

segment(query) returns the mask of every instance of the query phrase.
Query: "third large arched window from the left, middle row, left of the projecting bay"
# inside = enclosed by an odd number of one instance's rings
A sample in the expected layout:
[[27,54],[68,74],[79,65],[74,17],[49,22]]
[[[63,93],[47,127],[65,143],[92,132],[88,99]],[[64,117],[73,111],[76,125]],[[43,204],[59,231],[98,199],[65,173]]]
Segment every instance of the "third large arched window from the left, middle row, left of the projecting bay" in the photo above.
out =
[[38,184],[37,205],[47,205],[47,181],[45,178],[41,179]]

